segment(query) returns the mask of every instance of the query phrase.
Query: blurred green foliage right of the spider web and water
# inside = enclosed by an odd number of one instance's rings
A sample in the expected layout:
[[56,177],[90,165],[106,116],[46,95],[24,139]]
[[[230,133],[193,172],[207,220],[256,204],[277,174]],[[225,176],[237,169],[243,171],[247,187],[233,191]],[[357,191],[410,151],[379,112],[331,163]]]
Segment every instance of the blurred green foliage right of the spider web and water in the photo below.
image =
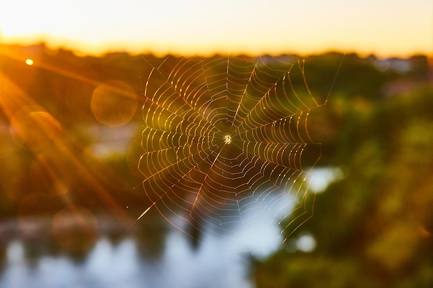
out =
[[[367,72],[365,72],[367,73]],[[331,164],[344,178],[315,200],[315,251],[255,263],[257,287],[433,286],[433,88],[341,97]]]

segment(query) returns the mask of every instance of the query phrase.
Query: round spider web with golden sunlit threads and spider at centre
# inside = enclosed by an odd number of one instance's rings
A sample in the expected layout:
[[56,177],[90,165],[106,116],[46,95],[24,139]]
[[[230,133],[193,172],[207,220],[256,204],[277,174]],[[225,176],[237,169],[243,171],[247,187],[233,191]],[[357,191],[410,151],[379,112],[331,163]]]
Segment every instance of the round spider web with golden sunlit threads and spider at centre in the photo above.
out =
[[[257,218],[294,231],[313,213],[308,173],[321,155],[308,133],[313,96],[291,56],[145,60],[138,169],[149,209],[193,238]],[[308,155],[308,156],[305,156]],[[285,233],[286,234],[286,233]]]

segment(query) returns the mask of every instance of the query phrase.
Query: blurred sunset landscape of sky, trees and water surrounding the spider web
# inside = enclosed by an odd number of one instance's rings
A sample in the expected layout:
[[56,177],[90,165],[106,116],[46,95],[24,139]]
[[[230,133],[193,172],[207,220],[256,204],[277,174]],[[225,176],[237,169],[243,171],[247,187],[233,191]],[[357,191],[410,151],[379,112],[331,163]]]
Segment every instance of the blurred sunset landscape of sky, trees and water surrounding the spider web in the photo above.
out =
[[[433,287],[431,1],[96,2],[1,4],[0,287]],[[228,50],[330,93],[315,206],[197,243],[136,222],[143,59]]]

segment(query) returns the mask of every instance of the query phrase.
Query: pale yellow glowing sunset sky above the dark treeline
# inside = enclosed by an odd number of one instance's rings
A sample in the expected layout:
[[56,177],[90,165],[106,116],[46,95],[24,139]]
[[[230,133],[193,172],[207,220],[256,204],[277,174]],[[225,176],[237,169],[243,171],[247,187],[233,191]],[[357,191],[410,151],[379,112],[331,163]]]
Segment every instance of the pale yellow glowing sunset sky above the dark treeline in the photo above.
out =
[[99,54],[433,53],[432,0],[5,0],[0,43]]

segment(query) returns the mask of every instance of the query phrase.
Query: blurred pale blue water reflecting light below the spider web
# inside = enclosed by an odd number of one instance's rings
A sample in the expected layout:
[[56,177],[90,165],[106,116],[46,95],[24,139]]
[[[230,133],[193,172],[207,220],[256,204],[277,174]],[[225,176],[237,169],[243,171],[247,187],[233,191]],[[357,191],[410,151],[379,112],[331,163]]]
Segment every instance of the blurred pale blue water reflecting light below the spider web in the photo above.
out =
[[[338,178],[339,173],[335,169],[317,170],[312,173],[315,175],[312,186],[321,191]],[[0,232],[5,234],[4,229]],[[158,241],[158,236],[152,237]],[[254,287],[248,269],[250,257],[268,256],[280,247],[282,236],[275,222],[270,225],[263,219],[239,227],[230,238],[204,236],[199,246],[194,246],[190,238],[177,229],[169,229],[160,240],[163,241],[160,253],[143,253],[143,241],[128,235],[115,241],[101,236],[83,257],[73,258],[61,251],[40,247],[29,256],[32,249],[28,247],[29,242],[12,238],[3,250],[0,287],[250,288]],[[315,247],[312,236],[300,236],[294,241],[302,251]],[[147,249],[153,249],[151,247],[154,246],[148,245]]]

